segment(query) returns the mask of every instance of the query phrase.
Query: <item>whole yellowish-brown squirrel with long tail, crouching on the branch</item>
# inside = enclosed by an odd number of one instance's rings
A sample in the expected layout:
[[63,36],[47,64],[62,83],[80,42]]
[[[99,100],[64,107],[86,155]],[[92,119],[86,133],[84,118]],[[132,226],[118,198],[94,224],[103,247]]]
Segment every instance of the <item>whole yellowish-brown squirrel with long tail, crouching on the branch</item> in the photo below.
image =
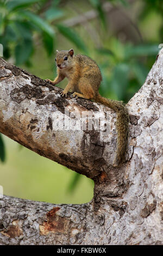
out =
[[57,63],[58,76],[54,81],[49,79],[46,81],[55,85],[67,77],[69,82],[61,92],[62,96],[67,96],[67,93],[71,90],[73,97],[102,103],[117,113],[117,150],[113,163],[113,166],[117,167],[123,161],[127,147],[129,123],[127,107],[122,101],[106,99],[99,94],[98,89],[102,81],[102,75],[98,65],[90,57],[82,54],[74,55],[73,49],[69,51],[57,50],[55,62]]

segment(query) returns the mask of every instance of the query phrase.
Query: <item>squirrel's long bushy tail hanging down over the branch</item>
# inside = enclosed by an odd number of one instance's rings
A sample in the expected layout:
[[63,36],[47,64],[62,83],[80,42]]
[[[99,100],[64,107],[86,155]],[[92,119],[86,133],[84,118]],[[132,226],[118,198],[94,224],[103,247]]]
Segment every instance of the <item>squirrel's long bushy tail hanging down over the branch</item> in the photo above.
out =
[[100,94],[96,96],[96,102],[102,103],[103,105],[114,109],[114,111],[117,113],[117,151],[113,165],[118,166],[118,164],[120,164],[124,159],[124,154],[126,152],[128,142],[128,109],[122,101],[106,99]]

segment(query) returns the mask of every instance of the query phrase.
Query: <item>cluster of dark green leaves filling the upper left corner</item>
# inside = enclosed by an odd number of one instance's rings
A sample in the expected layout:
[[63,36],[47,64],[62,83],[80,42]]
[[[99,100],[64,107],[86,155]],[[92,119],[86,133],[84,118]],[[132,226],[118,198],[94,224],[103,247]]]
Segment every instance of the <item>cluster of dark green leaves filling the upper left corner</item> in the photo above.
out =
[[[32,11],[34,4],[45,0],[3,1],[0,11],[0,43],[4,57],[15,56],[16,65],[28,63],[34,52],[34,33],[42,36],[48,54],[54,50],[54,29],[48,21]],[[40,4],[40,10],[42,5]]]

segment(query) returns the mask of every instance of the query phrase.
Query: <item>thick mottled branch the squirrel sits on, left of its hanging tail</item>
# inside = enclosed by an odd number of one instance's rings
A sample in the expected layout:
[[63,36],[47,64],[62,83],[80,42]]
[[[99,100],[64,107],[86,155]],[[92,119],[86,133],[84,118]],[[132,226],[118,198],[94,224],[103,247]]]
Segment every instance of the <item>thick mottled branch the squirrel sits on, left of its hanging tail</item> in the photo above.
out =
[[[59,87],[53,87],[3,59],[0,65],[0,132],[41,156],[98,180],[98,184],[103,182],[103,175],[110,172],[115,157],[116,129],[113,124],[116,114],[110,115],[111,109],[92,101],[76,100],[71,93],[66,99],[60,96]],[[106,131],[96,130],[95,124],[87,130],[80,129],[91,125],[91,120],[88,124],[84,115],[95,116],[94,123],[102,115],[108,117],[108,120],[101,119]],[[75,127],[78,130],[74,130]],[[115,178],[115,170],[112,169],[110,178],[113,175],[113,179],[121,180],[123,172]],[[121,192],[117,188],[115,194]]]

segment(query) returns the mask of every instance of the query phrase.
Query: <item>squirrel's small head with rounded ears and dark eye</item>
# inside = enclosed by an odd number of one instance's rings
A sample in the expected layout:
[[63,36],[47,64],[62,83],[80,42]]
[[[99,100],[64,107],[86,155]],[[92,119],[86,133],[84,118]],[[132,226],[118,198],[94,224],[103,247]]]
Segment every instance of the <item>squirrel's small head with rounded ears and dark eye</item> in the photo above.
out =
[[74,51],[70,49],[69,51],[58,51],[55,58],[55,62],[59,69],[70,68],[71,63],[73,62]]

